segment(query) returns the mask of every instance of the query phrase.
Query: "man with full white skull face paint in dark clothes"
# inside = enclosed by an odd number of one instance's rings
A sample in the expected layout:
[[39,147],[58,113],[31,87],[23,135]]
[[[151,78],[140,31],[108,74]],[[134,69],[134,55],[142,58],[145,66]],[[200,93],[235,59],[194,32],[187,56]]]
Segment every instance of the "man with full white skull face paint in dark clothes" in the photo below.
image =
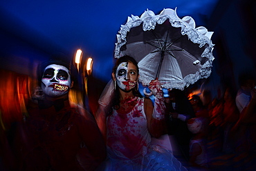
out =
[[70,68],[56,60],[39,66],[44,98],[28,108],[22,170],[95,170],[106,156],[95,119],[68,101],[75,86]]

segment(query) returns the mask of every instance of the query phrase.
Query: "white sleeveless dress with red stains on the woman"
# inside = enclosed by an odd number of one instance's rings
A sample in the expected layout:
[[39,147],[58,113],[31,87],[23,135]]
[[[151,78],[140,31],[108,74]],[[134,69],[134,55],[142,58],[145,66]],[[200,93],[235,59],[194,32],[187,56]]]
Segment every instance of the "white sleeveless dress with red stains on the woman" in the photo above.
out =
[[128,114],[113,110],[107,118],[108,159],[101,170],[186,170],[169,150],[150,144],[143,104],[138,98]]

